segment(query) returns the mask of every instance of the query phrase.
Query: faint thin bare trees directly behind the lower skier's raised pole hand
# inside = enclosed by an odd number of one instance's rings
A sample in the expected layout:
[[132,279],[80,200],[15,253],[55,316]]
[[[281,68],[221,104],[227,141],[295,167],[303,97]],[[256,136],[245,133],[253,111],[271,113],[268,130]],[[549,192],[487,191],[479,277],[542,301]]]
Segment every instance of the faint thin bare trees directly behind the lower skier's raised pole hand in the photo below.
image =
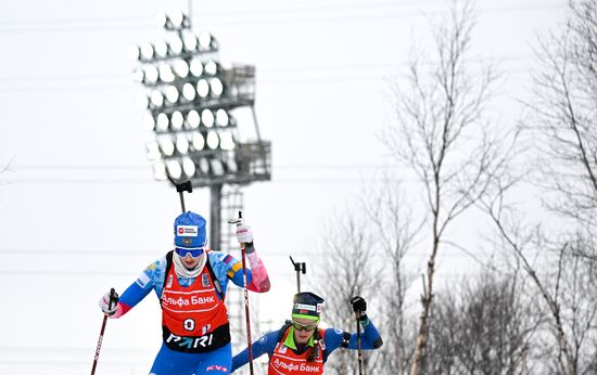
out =
[[[412,359],[416,329],[406,318],[406,290],[412,274],[405,270],[404,258],[420,224],[414,223],[410,208],[399,195],[398,185],[386,176],[378,188],[365,186],[355,206],[358,214],[342,212],[327,231],[323,251],[326,319],[334,326],[355,331],[347,313],[347,299],[355,287],[368,300],[368,311],[380,331],[382,350],[366,352],[370,374],[405,374]],[[381,288],[372,288],[382,285]],[[373,298],[374,297],[374,298]],[[334,353],[326,373],[351,374],[357,371],[356,354]]]

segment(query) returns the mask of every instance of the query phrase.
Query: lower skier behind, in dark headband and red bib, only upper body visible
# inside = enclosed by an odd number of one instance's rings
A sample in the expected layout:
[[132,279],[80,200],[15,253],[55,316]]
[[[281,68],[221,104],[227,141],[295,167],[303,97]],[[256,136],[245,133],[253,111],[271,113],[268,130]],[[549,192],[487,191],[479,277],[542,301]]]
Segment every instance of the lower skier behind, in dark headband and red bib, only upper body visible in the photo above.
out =
[[[277,374],[323,374],[323,364],[338,348],[357,349],[357,334],[340,329],[318,328],[323,299],[313,293],[294,295],[292,320],[280,329],[270,332],[253,342],[253,358],[269,355],[268,375]],[[378,329],[365,311],[367,302],[361,297],[351,299],[353,310],[364,331],[361,349],[378,349],[383,341]],[[249,350],[244,349],[232,359],[232,372],[249,362]]]

